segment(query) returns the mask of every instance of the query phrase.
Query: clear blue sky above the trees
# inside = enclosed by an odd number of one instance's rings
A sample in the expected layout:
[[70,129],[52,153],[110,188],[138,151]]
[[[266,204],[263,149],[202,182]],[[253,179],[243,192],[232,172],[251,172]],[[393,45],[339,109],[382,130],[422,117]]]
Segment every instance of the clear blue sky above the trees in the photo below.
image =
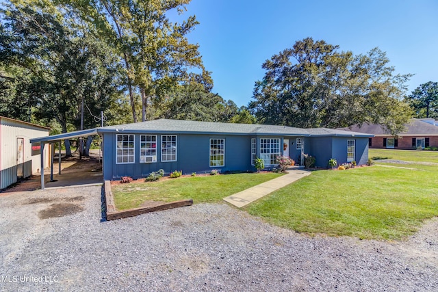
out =
[[188,36],[200,46],[214,92],[248,105],[261,64],[308,36],[342,51],[387,53],[396,73],[413,73],[409,92],[438,81],[438,1],[192,0],[184,18],[200,24]]

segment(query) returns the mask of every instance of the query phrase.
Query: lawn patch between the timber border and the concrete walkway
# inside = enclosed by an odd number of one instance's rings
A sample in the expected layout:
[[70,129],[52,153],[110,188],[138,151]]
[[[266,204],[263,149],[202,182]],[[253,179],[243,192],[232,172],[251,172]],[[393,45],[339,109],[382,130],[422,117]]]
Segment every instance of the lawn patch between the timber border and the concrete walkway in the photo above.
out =
[[223,198],[281,176],[276,173],[221,174],[172,178],[154,183],[112,186],[118,210],[140,207],[146,200],[172,202],[193,199],[194,203],[221,202]]

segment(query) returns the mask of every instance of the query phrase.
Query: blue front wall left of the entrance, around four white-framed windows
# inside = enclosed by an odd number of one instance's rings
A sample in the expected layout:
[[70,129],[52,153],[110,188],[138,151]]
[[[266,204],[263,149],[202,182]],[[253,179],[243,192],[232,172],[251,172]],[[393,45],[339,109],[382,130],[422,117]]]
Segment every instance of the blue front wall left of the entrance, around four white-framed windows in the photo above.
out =
[[[220,172],[255,170],[250,165],[251,139],[248,136],[240,135],[177,135],[177,161],[162,161],[162,134],[159,133],[129,133],[123,135],[134,135],[134,163],[115,163],[116,161],[116,135],[114,133],[103,133],[103,173],[104,179],[118,179],[121,176],[141,178],[148,176],[151,172],[163,169],[166,174],[174,170],[182,170],[183,174],[192,172],[209,173],[216,169]],[[140,163],[140,135],[157,135],[157,162]],[[174,135],[166,133],[166,135]],[[225,157],[224,166],[210,167],[209,148],[210,139],[224,139]]]

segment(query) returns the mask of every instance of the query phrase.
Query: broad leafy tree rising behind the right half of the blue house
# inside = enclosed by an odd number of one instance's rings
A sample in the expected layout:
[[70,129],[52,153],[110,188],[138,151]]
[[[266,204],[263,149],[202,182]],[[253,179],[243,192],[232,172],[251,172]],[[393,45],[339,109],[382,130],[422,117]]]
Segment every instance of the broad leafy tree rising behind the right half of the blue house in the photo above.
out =
[[379,49],[353,55],[305,38],[263,63],[265,76],[248,107],[263,123],[336,128],[372,122],[397,131],[391,117],[409,119],[401,98],[411,75],[394,75],[388,63]]

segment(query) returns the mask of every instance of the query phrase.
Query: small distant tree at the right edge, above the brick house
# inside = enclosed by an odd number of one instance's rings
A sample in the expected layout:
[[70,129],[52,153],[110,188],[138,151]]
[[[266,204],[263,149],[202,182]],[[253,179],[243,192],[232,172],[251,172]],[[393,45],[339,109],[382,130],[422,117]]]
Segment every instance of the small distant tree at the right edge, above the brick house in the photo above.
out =
[[438,118],[438,82],[421,84],[408,96],[417,118]]

